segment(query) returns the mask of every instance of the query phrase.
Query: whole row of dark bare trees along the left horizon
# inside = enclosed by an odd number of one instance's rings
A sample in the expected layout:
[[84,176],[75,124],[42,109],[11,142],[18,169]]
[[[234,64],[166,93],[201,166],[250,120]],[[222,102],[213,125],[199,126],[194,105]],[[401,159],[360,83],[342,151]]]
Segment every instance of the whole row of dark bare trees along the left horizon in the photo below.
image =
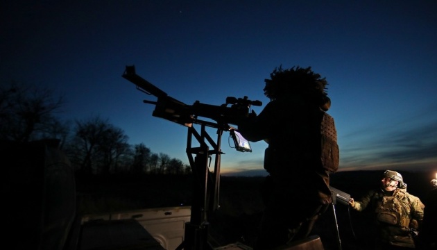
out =
[[32,142],[56,139],[75,171],[83,175],[189,174],[191,168],[144,143],[129,144],[128,135],[98,115],[63,122],[65,96],[50,88],[17,81],[0,85],[0,140]]

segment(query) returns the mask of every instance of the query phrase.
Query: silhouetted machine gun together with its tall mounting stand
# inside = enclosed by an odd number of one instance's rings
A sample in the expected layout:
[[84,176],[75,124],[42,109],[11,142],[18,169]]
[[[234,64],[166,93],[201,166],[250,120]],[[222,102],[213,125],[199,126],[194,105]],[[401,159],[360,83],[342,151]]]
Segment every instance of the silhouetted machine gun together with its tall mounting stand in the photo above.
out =
[[[237,124],[242,117],[249,115],[250,106],[262,106],[261,101],[250,101],[248,97],[228,97],[221,106],[194,102],[187,105],[166,92],[160,90],[135,73],[135,66],[126,66],[123,78],[137,85],[137,90],[157,97],[157,101],[144,100],[144,103],[155,104],[153,116],[182,124],[188,128],[187,156],[193,172],[193,201],[191,204],[191,221],[185,226],[185,240],[178,249],[212,249],[207,242],[207,211],[218,209],[220,190],[221,135],[230,131],[229,124]],[[230,106],[228,106],[230,105]],[[215,122],[207,122],[199,117],[206,117]],[[198,133],[193,124],[200,124]],[[216,142],[206,132],[206,126],[217,128]],[[198,140],[200,147],[192,147],[192,138]],[[236,141],[236,140],[235,140]],[[209,147],[212,147],[210,149]],[[239,151],[248,151],[237,147]],[[250,150],[249,150],[250,151]],[[196,155],[193,157],[193,155]],[[209,171],[210,156],[215,155],[214,172]],[[176,249],[176,250],[178,250]]]

